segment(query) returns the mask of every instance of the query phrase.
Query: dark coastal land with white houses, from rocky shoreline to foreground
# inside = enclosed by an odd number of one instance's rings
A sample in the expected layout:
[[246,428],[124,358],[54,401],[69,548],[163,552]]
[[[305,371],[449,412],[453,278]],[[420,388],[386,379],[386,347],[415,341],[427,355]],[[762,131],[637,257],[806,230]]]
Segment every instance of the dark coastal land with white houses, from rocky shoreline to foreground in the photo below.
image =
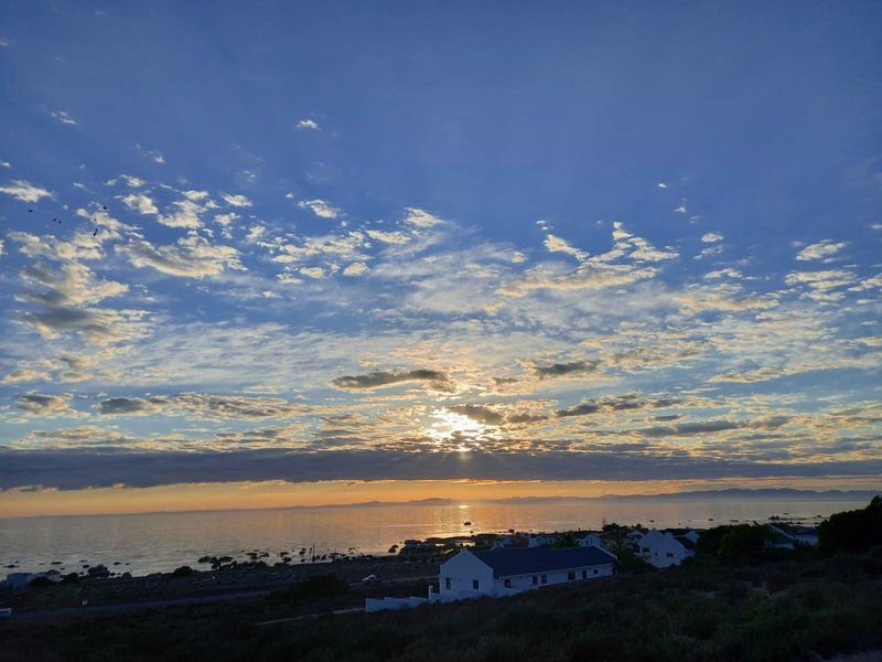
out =
[[[104,564],[10,573],[0,586],[0,658],[150,659],[161,650],[179,659],[212,641],[233,658],[243,645],[259,659],[302,649],[303,659],[358,660],[370,645],[376,659],[409,660],[426,647],[428,660],[472,650],[508,659],[526,647],[550,660],[660,660],[641,642],[664,627],[685,659],[826,659],[882,647],[871,607],[882,598],[880,549],[875,496],[817,526],[781,517],[707,528],[607,523],[406,540],[386,555],[308,549],[303,563],[254,549],[146,576]],[[793,623],[784,633],[782,619]],[[466,622],[483,623],[477,636]],[[552,643],[540,643],[549,631]],[[641,639],[628,639],[635,632]]]

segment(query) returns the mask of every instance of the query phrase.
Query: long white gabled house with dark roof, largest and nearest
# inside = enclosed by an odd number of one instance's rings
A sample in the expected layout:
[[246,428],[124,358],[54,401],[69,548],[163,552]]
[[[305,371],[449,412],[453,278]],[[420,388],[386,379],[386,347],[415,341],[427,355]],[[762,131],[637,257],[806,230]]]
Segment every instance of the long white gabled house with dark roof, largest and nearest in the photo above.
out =
[[464,549],[441,565],[439,591],[430,589],[429,601],[512,596],[552,584],[606,577],[613,574],[615,560],[614,554],[593,546]]

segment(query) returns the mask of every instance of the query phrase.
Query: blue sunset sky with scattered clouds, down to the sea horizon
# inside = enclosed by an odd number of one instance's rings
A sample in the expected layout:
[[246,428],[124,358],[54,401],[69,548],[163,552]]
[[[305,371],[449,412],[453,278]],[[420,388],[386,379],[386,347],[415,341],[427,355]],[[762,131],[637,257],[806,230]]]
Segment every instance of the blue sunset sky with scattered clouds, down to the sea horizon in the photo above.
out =
[[0,516],[882,485],[878,2],[0,26]]

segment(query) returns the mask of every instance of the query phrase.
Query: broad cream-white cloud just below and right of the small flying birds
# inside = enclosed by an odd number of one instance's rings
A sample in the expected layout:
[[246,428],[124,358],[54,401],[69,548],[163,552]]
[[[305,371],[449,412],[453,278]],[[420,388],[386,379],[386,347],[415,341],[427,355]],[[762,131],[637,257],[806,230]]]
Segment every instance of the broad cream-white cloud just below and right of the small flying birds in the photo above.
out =
[[205,278],[218,276],[225,269],[245,270],[238,250],[212,244],[197,235],[181,237],[176,244],[165,246],[153,246],[147,239],[137,238],[117,246],[116,250],[136,267],[150,267],[169,276]]

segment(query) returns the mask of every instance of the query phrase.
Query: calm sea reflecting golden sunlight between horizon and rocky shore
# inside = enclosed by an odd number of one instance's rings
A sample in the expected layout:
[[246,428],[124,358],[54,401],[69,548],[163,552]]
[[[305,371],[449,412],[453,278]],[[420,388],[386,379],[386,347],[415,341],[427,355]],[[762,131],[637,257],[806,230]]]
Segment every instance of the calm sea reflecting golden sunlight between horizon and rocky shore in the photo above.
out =
[[[708,527],[730,521],[766,521],[787,513],[805,522],[853,510],[863,501],[657,501],[548,502],[518,504],[388,505],[263,511],[214,511],[29,517],[0,520],[0,563],[35,572],[66,572],[114,562],[112,569],[135,575],[196,565],[204,555],[232,555],[266,549],[276,553],[315,546],[316,553],[351,548],[385,554],[405,538],[483,532],[557,531],[600,527],[603,521],[663,526]],[[713,520],[712,522],[709,520]],[[654,524],[650,524],[654,520]],[[466,525],[465,522],[471,522]],[[62,562],[52,566],[52,562]],[[128,565],[126,565],[128,564]],[[2,576],[2,572],[0,572]]]

